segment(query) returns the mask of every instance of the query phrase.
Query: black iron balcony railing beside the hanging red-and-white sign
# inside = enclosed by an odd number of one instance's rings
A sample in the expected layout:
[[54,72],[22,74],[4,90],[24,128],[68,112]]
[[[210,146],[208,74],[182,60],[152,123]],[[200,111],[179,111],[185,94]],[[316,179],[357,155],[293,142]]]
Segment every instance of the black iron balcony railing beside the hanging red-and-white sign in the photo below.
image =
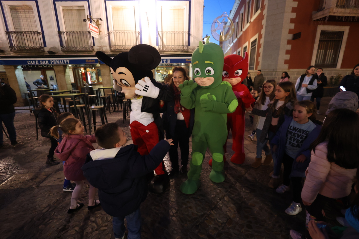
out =
[[61,51],[93,51],[89,31],[59,31]]

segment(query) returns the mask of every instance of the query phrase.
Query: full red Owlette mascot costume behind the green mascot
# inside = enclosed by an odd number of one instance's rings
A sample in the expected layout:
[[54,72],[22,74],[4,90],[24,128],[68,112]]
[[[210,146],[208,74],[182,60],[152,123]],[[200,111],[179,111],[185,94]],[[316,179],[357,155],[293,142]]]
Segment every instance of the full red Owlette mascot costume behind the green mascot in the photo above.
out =
[[[239,55],[229,55],[224,57],[224,66],[222,80],[228,81],[232,86],[232,90],[238,99],[238,106],[236,111],[227,114],[227,128],[232,131],[233,145],[232,149],[234,154],[230,161],[232,163],[242,164],[246,155],[244,154],[244,113],[245,108],[255,102],[251,92],[247,86],[242,84],[242,81],[247,77],[248,73],[248,54],[245,52],[244,59]],[[227,142],[226,142],[227,144]],[[226,151],[226,144],[224,150]]]

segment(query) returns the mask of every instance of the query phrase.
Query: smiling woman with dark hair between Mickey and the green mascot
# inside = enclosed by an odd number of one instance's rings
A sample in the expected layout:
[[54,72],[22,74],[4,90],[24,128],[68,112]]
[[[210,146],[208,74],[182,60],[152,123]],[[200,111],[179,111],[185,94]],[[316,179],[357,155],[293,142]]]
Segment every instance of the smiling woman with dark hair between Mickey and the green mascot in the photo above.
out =
[[[162,106],[165,112],[162,115],[166,138],[173,139],[173,145],[169,149],[169,159],[171,160],[172,170],[169,176],[174,176],[178,172],[187,172],[188,155],[190,154],[190,136],[194,124],[194,109],[188,110],[181,105],[181,90],[178,87],[185,80],[189,80],[185,68],[176,66],[172,70],[173,77],[168,83],[169,90],[174,94],[174,100],[165,102]],[[161,102],[162,104],[162,102]],[[162,104],[163,105],[163,104]],[[178,166],[178,144],[181,149],[181,171]]]

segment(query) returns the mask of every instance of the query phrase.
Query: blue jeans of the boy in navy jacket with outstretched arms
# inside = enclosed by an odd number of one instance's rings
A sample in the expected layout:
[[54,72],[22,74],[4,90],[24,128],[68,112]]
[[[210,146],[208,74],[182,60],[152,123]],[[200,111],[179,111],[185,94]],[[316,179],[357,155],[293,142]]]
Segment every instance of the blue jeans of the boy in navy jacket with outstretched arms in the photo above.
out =
[[[140,208],[132,212],[130,215],[125,216],[127,221],[127,229],[129,234],[127,235],[128,239],[140,239],[141,238],[141,212]],[[122,217],[113,217],[113,233],[115,238],[122,238],[125,234],[125,218]]]

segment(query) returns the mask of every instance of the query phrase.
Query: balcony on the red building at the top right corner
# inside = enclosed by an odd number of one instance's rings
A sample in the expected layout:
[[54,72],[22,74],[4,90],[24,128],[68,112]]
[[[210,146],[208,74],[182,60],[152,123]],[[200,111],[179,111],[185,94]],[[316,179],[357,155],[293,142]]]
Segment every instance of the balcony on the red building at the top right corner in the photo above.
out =
[[312,19],[359,22],[359,0],[320,0],[319,8],[313,13]]

